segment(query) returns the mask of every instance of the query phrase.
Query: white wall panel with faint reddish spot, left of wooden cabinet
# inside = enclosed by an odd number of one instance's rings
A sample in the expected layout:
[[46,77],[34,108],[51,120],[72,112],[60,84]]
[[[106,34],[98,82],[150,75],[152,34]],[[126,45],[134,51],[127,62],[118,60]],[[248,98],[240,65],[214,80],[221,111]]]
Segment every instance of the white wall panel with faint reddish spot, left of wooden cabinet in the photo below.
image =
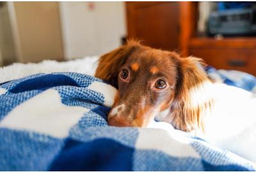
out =
[[60,15],[66,59],[104,54],[126,35],[124,2],[61,2]]

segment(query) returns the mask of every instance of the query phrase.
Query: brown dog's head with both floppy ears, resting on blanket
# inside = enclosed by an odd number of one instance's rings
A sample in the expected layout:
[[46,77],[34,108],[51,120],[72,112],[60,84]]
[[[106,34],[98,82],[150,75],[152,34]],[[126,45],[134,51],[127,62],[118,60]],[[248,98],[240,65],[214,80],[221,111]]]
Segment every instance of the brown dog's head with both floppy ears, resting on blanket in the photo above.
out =
[[96,77],[118,89],[108,115],[110,125],[145,127],[161,111],[177,129],[203,127],[211,106],[209,80],[195,57],[145,47],[136,41],[103,55]]

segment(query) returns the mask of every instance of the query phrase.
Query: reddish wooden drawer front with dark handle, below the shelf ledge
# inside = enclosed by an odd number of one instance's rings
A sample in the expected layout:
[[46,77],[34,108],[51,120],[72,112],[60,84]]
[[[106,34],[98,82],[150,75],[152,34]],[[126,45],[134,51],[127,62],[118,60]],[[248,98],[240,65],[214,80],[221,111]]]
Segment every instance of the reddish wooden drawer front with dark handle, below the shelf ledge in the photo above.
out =
[[191,55],[204,59],[217,69],[234,69],[256,75],[256,48],[191,48]]

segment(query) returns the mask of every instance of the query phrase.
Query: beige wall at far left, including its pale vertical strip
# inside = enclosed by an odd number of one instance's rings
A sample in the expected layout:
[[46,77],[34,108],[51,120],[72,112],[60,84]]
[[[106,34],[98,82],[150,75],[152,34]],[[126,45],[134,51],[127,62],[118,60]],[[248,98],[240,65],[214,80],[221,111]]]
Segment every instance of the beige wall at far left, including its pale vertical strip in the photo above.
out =
[[58,3],[4,3],[0,8],[0,49],[4,65],[63,60]]

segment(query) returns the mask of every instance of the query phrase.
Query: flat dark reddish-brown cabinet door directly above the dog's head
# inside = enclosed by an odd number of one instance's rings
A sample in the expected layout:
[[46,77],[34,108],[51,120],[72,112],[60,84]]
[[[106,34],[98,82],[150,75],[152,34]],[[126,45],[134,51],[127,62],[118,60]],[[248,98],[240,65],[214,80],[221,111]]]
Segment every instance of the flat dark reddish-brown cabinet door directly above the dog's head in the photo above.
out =
[[127,2],[128,38],[165,50],[179,47],[179,2]]

